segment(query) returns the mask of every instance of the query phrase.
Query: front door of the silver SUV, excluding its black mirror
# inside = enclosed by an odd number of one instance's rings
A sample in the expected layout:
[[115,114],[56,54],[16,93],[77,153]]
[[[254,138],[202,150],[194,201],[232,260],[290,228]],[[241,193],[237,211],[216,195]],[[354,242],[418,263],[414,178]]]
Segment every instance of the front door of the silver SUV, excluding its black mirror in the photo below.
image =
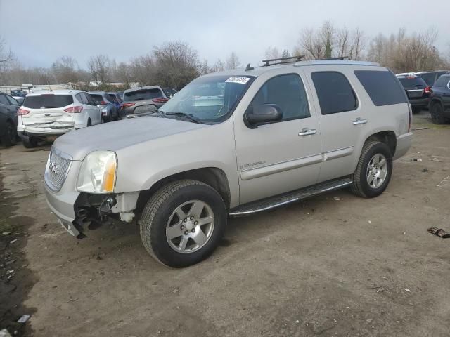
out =
[[300,74],[259,78],[253,84],[259,88],[246,112],[275,104],[283,113],[280,121],[255,126],[233,115],[241,204],[316,183],[321,131]]

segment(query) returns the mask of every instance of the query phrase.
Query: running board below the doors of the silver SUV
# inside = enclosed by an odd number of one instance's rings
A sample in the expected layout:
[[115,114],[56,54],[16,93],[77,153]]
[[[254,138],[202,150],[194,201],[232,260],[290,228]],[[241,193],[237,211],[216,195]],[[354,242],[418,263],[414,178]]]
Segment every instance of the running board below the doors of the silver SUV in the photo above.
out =
[[349,185],[352,185],[352,179],[350,178],[341,178],[338,180],[327,181],[326,183],[320,183],[310,187],[302,188],[300,190],[295,190],[285,194],[278,194],[274,197],[269,197],[258,201],[252,201],[248,204],[243,204],[234,209],[231,209],[229,212],[229,216],[245,216],[247,214],[275,209],[276,207],[290,204],[291,202],[307,199],[323,192],[338,190]]

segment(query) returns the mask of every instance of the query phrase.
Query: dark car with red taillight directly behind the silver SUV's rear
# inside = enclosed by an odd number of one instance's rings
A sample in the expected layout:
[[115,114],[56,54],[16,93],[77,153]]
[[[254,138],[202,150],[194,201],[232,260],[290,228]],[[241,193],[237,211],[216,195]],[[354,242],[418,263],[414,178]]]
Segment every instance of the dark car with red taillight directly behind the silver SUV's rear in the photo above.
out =
[[420,112],[430,103],[430,86],[422,77],[416,75],[397,75],[401,85],[406,91],[413,113]]

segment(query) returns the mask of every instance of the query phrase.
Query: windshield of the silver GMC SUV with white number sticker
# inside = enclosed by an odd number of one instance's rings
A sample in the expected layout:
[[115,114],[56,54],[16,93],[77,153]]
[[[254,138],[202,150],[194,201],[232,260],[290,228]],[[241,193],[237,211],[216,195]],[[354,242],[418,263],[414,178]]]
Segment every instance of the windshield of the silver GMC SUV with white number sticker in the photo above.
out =
[[185,86],[160,109],[165,114],[190,114],[202,122],[219,123],[226,119],[253,77],[199,77]]

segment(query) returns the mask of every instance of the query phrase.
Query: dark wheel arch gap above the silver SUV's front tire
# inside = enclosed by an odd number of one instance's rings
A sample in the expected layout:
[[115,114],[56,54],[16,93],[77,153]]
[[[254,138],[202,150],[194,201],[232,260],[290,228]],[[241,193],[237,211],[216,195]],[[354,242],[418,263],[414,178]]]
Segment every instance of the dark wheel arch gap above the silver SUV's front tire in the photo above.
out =
[[164,178],[160,178],[160,180],[153,183],[153,185],[148,190],[142,190],[141,192],[139,192],[139,197],[136,202],[136,209],[138,211],[142,211],[150,196],[153,195],[157,190],[159,190],[167,183],[181,179],[198,180],[202,183],[210,185],[220,194],[221,198],[225,202],[226,209],[230,208],[231,192],[229,179],[227,178],[226,173],[222,169],[219,169],[217,167],[203,167],[199,169],[181,171]]

